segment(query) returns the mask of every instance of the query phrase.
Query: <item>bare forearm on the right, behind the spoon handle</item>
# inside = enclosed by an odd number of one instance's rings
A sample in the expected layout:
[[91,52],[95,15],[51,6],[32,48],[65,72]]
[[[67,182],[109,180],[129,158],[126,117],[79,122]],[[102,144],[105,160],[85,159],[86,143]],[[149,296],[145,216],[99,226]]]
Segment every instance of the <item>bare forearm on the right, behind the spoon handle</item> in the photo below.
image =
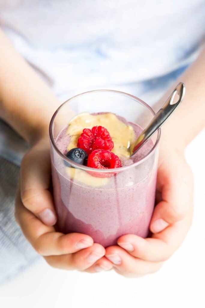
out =
[[204,72],[205,48],[157,104],[159,106],[164,103],[179,81],[185,84],[186,93],[183,102],[162,127],[161,143],[163,145],[169,146],[168,144],[171,142],[183,150],[205,126]]

